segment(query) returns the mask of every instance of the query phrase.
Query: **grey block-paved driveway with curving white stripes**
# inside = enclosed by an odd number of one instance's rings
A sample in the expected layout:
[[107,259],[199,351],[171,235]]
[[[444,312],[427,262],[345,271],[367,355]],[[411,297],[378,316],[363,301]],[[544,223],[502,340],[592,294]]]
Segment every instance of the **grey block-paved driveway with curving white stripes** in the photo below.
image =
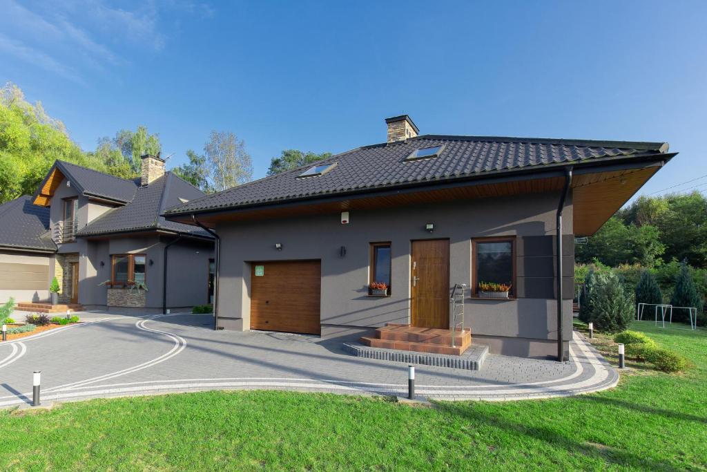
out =
[[[280,388],[404,394],[407,364],[362,359],[341,339],[214,331],[209,315],[119,316],[0,343],[0,407],[29,403],[42,371],[42,401],[168,391]],[[489,355],[480,372],[416,367],[416,393],[445,399],[569,396],[617,384],[618,374],[575,333],[571,362]]]

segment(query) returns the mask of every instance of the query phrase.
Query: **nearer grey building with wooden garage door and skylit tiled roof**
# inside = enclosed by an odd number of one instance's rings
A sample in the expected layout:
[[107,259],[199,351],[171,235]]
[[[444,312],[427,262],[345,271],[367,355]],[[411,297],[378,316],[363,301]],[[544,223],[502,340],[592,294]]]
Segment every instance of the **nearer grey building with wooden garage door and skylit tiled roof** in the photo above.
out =
[[419,135],[407,115],[385,121],[387,142],[165,212],[218,235],[218,327],[447,330],[457,287],[464,326],[490,352],[566,357],[574,237],[670,161],[667,143]]

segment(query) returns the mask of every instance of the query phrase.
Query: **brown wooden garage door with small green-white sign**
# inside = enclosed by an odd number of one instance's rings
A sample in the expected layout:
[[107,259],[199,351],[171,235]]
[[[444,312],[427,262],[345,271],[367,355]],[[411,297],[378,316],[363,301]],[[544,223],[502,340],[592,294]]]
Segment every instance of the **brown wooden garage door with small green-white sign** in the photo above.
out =
[[318,260],[252,263],[250,328],[320,334]]

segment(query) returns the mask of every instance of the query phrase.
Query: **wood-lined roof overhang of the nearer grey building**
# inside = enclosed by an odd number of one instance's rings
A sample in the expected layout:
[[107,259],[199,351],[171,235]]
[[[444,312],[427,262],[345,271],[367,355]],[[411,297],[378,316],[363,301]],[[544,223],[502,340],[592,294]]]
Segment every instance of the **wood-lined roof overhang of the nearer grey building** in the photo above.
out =
[[396,188],[303,197],[286,202],[257,203],[163,216],[171,221],[194,224],[194,215],[204,226],[214,228],[226,221],[300,217],[354,209],[380,209],[452,200],[559,192],[563,188],[565,168],[572,167],[575,175],[572,185],[573,232],[577,236],[590,236],[676,154],[658,153],[550,164],[542,168],[497,171],[447,182],[418,183]]

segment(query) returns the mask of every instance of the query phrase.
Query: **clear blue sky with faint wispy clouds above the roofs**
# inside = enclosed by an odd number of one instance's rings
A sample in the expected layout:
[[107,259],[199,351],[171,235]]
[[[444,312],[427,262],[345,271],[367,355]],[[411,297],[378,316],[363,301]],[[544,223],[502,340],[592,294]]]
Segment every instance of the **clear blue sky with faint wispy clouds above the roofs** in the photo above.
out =
[[283,149],[382,142],[383,119],[408,113],[422,133],[670,142],[680,155],[645,193],[707,174],[706,1],[0,0],[0,11],[0,81],[41,100],[84,149],[141,124],[175,166],[228,130],[259,178]]

